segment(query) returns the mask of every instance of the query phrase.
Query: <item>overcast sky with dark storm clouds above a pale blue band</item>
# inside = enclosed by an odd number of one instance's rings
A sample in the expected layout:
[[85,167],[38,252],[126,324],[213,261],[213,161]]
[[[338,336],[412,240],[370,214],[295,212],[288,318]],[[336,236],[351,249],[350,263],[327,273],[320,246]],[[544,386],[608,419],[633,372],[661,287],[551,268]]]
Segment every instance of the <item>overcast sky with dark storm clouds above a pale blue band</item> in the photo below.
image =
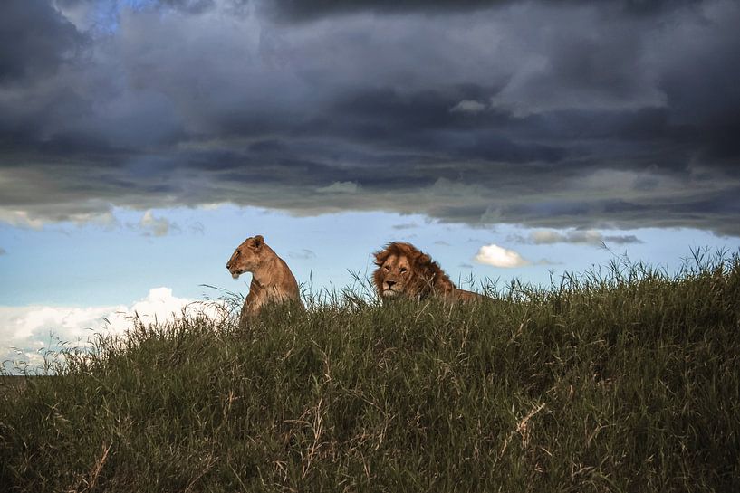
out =
[[[733,250],[738,25],[734,0],[3,0],[0,270],[21,283],[39,244],[100,270],[84,241],[125,251],[131,232],[155,265],[219,232],[201,253],[221,269],[262,233],[311,272],[332,232],[356,250],[337,272],[403,237],[453,274],[533,280],[601,242]],[[238,211],[283,219],[229,236]],[[137,261],[141,286],[106,304],[178,296]],[[69,302],[23,282],[0,305]]]

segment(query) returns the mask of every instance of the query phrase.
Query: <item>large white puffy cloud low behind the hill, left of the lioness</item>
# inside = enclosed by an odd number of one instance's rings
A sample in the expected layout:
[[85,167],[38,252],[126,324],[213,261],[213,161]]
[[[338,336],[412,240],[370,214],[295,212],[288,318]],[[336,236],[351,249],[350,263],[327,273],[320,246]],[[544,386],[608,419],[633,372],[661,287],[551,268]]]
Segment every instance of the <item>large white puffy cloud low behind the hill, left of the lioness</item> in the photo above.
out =
[[178,298],[169,288],[149,289],[149,294],[130,305],[103,307],[0,307],[0,362],[12,369],[13,362],[43,364],[43,349],[88,346],[94,333],[123,334],[138,317],[144,323],[166,322],[197,313],[219,318],[224,312],[213,303]]

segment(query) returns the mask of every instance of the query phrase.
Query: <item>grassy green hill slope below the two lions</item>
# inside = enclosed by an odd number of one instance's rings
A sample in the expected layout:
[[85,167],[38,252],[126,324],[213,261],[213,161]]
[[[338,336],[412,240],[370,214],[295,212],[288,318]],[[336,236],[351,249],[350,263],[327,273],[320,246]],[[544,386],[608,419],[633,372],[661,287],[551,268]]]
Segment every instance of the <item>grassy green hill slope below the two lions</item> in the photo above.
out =
[[137,323],[0,395],[7,491],[740,491],[740,261]]

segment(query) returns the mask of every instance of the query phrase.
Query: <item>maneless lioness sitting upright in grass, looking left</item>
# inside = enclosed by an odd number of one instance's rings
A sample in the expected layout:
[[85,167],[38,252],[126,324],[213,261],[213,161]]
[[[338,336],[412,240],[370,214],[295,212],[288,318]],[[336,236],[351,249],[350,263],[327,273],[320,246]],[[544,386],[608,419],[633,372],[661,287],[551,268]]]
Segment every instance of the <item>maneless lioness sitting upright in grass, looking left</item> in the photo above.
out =
[[239,327],[245,327],[247,319],[258,315],[267,303],[294,302],[303,308],[293,272],[261,235],[247,238],[239,245],[226,263],[226,269],[234,279],[252,272],[252,284],[239,316]]

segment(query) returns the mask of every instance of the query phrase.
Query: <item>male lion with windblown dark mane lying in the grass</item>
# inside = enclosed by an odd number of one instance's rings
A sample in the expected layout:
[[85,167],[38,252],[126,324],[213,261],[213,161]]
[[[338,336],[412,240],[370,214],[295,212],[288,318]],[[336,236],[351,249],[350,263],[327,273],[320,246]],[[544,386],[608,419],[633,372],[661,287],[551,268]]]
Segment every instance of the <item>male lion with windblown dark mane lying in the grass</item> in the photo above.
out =
[[388,243],[385,249],[375,252],[375,265],[378,269],[372,279],[384,302],[399,296],[439,296],[454,301],[485,299],[478,293],[458,289],[436,261],[411,243]]

